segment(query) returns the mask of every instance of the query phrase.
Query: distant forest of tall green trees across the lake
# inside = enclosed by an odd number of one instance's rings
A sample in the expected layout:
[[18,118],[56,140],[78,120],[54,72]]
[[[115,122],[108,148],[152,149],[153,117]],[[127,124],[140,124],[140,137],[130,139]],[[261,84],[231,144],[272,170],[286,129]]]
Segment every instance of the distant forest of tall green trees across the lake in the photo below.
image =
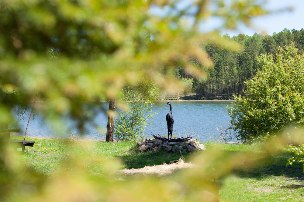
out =
[[214,61],[214,67],[205,68],[195,58],[191,58],[190,62],[199,68],[206,69],[206,80],[193,78],[183,68],[177,70],[179,77],[192,78],[192,92],[196,94],[197,98],[231,98],[233,94],[243,95],[243,90],[246,88],[244,81],[252,78],[259,70],[255,62],[256,56],[265,53],[274,55],[278,46],[290,45],[291,41],[295,42],[295,46],[299,50],[304,48],[303,28],[291,31],[285,28],[273,35],[255,33],[253,36],[240,34],[233,37],[229,35],[222,37],[239,43],[243,50],[231,51],[213,44],[212,41],[202,44],[202,48]]

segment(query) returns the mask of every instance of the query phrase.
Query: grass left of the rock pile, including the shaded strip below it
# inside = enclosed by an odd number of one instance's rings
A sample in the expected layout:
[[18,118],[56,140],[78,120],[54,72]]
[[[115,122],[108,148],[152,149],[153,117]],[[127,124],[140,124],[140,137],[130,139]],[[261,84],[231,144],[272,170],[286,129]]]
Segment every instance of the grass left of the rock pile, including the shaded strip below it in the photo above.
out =
[[[20,136],[12,136],[12,139],[23,139]],[[26,147],[25,153],[21,156],[24,162],[33,167],[38,173],[50,175],[61,166],[77,159],[85,159],[86,170],[95,174],[103,172],[99,165],[104,159],[116,159],[120,164],[119,169],[141,168],[144,166],[169,164],[170,161],[181,157],[179,153],[152,152],[142,153],[139,151],[136,142],[121,141],[108,143],[105,141],[73,141],[68,139],[36,139],[27,137],[26,140],[35,141],[33,147]],[[182,152],[188,159],[190,153]],[[71,157],[72,156],[72,157]]]

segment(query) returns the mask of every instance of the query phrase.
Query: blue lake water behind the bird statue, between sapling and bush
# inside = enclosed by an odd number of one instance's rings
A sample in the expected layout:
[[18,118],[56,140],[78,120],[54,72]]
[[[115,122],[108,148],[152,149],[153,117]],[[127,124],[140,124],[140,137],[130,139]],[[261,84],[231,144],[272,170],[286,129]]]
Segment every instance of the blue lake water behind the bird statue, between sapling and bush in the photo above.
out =
[[[201,141],[216,140],[216,127],[226,124],[230,120],[227,105],[230,101],[171,101],[172,115],[174,118],[173,134],[184,137],[188,131],[194,131]],[[166,101],[158,101],[154,105],[158,111],[157,116],[151,121],[152,129],[146,128],[150,135],[168,135],[166,114],[170,108]],[[153,108],[153,109],[154,109]],[[211,137],[210,137],[211,135]]]

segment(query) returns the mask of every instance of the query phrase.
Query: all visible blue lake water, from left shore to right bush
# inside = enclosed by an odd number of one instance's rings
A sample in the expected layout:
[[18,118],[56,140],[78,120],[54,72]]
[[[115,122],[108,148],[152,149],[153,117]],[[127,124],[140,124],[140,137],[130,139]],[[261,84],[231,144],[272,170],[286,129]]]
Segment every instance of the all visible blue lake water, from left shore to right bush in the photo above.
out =
[[[145,136],[151,136],[151,132],[161,136],[168,135],[166,115],[170,106],[164,108],[166,102],[157,101],[152,106],[152,112],[157,112],[157,115],[151,121],[151,124],[145,128]],[[174,118],[173,134],[180,137],[184,137],[185,133],[189,131],[194,131],[196,137],[199,137],[202,142],[216,141],[216,127],[222,126],[224,122],[228,124],[230,120],[226,106],[231,105],[231,101],[171,101],[171,104]],[[109,108],[108,103],[102,105]],[[105,139],[105,131],[98,130],[95,126],[105,130],[108,118],[98,109],[96,109],[96,113],[94,124],[86,124],[88,130],[84,133],[83,137],[85,139]],[[16,135],[24,135],[28,119],[29,115],[25,116],[25,121],[19,121],[20,133],[16,133]],[[32,119],[30,122],[27,136],[66,137],[71,130],[77,131],[75,126],[76,123],[68,118],[61,120],[55,126],[37,115],[35,120]]]

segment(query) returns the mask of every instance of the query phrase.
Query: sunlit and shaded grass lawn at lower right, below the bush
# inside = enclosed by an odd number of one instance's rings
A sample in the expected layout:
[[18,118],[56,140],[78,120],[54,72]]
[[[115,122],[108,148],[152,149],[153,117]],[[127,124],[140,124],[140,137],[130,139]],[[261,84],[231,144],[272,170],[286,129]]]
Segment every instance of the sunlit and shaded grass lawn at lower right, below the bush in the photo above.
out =
[[286,167],[291,154],[287,148],[275,153],[255,145],[223,145],[226,155],[236,151],[256,153],[252,162],[233,169],[219,179],[221,201],[304,201],[302,164]]

